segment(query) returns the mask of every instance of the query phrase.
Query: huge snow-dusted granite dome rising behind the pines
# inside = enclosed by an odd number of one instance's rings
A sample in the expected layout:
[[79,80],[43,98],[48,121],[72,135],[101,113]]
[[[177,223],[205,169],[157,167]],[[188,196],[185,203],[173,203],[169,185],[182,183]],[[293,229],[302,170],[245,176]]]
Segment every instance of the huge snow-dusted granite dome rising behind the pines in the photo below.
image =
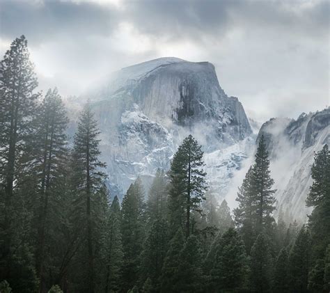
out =
[[169,168],[188,134],[203,145],[209,182],[226,193],[219,180],[230,180],[253,145],[242,104],[224,93],[208,62],[159,58],[133,65],[89,95],[113,193],[123,194],[137,176],[148,185],[157,168]]

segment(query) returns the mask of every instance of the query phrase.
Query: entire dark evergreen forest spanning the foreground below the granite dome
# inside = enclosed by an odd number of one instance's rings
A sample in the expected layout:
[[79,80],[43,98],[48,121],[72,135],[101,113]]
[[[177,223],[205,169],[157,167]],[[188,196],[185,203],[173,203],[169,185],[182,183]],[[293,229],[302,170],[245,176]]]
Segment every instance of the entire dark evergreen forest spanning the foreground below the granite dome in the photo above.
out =
[[[0,292],[329,292],[330,152],[315,154],[307,225],[277,223],[263,137],[233,218],[188,136],[148,194],[109,200],[87,104],[71,148],[56,89],[45,97],[24,36],[0,65]],[[10,289],[11,288],[11,289]]]

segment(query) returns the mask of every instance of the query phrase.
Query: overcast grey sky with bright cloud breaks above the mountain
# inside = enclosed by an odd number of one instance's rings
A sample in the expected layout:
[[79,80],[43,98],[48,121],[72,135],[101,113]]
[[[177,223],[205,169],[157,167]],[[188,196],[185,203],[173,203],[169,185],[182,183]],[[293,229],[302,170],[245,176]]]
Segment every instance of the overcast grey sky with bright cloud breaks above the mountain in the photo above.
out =
[[0,0],[0,54],[26,35],[40,88],[79,95],[163,56],[210,61],[257,120],[329,106],[329,1]]

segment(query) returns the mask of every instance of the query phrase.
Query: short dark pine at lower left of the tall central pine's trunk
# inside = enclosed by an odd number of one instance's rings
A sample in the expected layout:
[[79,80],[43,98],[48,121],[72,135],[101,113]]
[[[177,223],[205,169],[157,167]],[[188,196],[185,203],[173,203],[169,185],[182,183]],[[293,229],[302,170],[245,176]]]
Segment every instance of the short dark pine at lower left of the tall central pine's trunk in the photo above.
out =
[[162,289],[161,292],[180,292],[178,283],[180,282],[180,251],[184,246],[182,230],[175,233],[168,244],[168,251],[162,268]]

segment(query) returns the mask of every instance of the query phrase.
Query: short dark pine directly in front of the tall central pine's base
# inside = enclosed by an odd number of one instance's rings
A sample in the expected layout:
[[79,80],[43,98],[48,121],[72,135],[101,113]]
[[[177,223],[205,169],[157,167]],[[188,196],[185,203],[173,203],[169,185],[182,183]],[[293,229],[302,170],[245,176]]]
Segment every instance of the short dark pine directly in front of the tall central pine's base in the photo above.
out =
[[186,243],[180,251],[178,274],[180,276],[178,283],[180,292],[201,292],[203,287],[201,249],[195,235],[187,238]]

